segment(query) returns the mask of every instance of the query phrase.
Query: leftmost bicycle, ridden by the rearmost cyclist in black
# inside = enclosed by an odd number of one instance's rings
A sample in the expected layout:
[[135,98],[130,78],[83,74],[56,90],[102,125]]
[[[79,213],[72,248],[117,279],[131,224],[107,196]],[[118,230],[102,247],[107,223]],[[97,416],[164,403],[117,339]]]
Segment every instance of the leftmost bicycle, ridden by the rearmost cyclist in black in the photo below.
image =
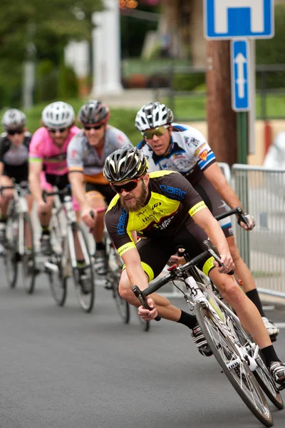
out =
[[33,228],[28,213],[28,183],[2,186],[4,190],[14,190],[14,198],[9,203],[5,228],[4,252],[1,254],[4,263],[6,280],[9,287],[16,287],[18,264],[21,262],[22,280],[28,294],[33,294],[36,274],[36,252],[33,242]]

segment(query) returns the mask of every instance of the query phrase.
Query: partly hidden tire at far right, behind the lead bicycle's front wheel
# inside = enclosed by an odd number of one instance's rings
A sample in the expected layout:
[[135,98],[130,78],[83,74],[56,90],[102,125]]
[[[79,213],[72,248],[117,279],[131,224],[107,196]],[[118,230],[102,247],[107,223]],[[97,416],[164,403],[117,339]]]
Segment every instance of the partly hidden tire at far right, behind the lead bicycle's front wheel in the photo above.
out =
[[[230,312],[227,312],[227,325],[229,327],[232,325],[232,330],[234,330],[234,334],[237,336],[239,342],[241,342],[242,346],[247,347],[248,352],[252,350],[251,344],[254,343],[252,337],[244,330],[242,325],[238,323],[231,315]],[[271,377],[268,368],[265,365],[264,358],[259,350],[259,355],[257,357],[257,370],[254,370],[253,374],[257,379],[260,387],[265,392],[266,396],[270,399],[270,401],[274,404],[274,406],[281,410],[284,408],[284,402],[281,397],[279,390],[276,387],[274,379]]]

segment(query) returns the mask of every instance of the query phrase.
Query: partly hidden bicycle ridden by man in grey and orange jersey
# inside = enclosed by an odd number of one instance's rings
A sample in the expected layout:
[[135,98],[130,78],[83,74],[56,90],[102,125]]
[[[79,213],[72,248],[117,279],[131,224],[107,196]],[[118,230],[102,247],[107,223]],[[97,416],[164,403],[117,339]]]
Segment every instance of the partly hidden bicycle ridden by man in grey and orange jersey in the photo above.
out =
[[[119,294],[119,282],[120,282],[120,273],[123,267],[123,260],[120,258],[118,251],[115,249],[107,230],[104,233],[104,242],[106,250],[106,265],[107,273],[105,276],[105,288],[112,290],[113,299],[115,300],[115,305],[119,312],[120,318],[125,324],[130,322],[130,304],[126,302]],[[138,314],[138,312],[136,311]],[[138,316],[138,315],[137,315]],[[142,327],[142,330],[148,331],[150,329],[150,321],[142,320],[138,316],[138,322]]]

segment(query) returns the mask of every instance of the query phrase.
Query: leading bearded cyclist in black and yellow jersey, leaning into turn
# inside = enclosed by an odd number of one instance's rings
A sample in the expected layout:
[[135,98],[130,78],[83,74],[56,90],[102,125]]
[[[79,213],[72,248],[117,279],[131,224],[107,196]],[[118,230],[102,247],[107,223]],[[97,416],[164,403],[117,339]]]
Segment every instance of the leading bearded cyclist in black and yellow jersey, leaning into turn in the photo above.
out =
[[[152,310],[146,310],[132,291],[133,285],[138,285],[141,290],[148,286],[178,244],[185,247],[190,257],[195,257],[204,250],[203,241],[208,236],[217,246],[223,266],[217,267],[217,263],[208,258],[200,267],[257,341],[276,382],[283,383],[285,366],[276,355],[257,307],[242,292],[233,275],[222,275],[234,268],[227,240],[192,185],[180,173],[173,171],[147,173],[146,158],[138,148],[121,148],[112,153],[105,161],[103,173],[118,193],[108,207],[105,223],[125,264],[120,277],[120,295],[131,305],[139,307],[139,315],[145,320],[153,320],[159,314],[167,320],[186,325],[192,330],[199,352],[211,355],[194,316],[157,294],[148,298]],[[132,240],[132,230],[142,236],[136,245]]]

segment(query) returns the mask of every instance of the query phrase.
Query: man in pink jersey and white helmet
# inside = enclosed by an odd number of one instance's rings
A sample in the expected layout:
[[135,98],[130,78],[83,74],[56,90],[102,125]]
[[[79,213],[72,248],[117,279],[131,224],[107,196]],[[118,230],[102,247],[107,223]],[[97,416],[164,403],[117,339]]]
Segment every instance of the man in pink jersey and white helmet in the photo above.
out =
[[69,141],[80,129],[75,126],[73,107],[62,101],[48,104],[43,109],[41,120],[43,126],[33,134],[29,147],[28,181],[38,204],[41,251],[44,255],[51,255],[49,222],[53,201],[52,198],[47,202],[43,200],[43,190],[51,190],[53,185],[61,190],[68,185],[66,152]]

